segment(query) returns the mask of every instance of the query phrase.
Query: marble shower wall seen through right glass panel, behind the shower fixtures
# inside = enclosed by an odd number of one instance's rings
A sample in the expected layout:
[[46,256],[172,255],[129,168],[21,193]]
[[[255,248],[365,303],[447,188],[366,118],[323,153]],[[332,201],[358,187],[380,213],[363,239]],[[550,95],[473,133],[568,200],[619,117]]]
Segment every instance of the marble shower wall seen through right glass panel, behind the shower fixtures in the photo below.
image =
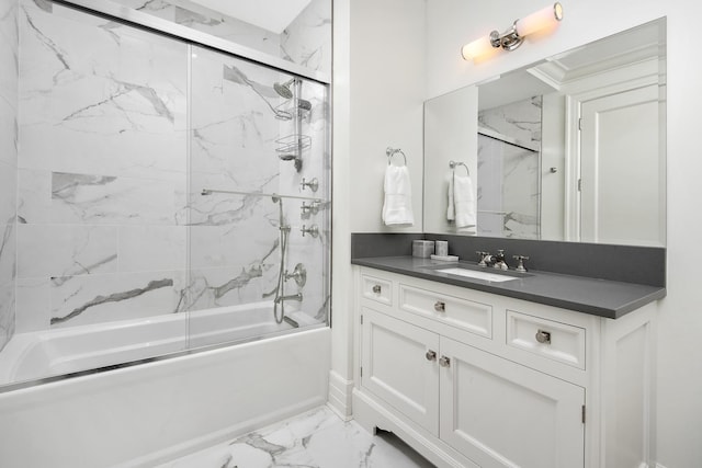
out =
[[[291,79],[224,54],[194,49],[190,310],[273,298],[282,254],[279,229],[282,203],[283,224],[291,226],[285,269],[292,272],[297,262],[303,262],[308,271],[304,288],[298,289],[294,282],[286,284],[286,295],[302,292],[305,298],[302,304],[288,303],[286,309],[302,308],[313,317],[322,310],[321,320],[326,320],[324,306],[328,292],[322,273],[328,233],[322,232],[316,239],[302,237],[303,201],[296,198],[327,199],[325,87],[302,82],[301,96],[312,109],[299,111],[297,116],[294,101],[281,98],[273,89],[274,83]],[[279,158],[287,153],[280,149],[296,141],[298,133],[309,138],[309,146],[301,155],[299,171],[294,161]],[[303,178],[307,181],[317,178],[318,191],[313,194],[309,189],[303,190]],[[245,194],[203,196],[204,189]],[[282,196],[273,201],[272,193]],[[326,207],[325,203],[318,205]],[[319,218],[317,224],[324,230],[325,216],[326,210],[321,209],[317,215],[308,214],[306,219],[314,222],[310,218]]]

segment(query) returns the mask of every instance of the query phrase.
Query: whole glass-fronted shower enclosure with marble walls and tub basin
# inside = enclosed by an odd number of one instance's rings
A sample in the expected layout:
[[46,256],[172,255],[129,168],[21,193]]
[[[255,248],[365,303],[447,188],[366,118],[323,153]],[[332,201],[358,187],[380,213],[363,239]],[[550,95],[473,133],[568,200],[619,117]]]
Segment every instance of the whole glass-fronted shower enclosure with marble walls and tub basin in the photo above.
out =
[[0,385],[327,327],[328,80],[69,3],[2,68]]

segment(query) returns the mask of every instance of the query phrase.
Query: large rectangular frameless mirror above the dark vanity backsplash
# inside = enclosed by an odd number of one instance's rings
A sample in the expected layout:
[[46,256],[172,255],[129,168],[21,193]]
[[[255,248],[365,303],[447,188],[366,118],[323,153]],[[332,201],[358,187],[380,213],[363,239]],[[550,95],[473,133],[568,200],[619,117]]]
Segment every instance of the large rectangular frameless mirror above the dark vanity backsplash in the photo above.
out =
[[424,231],[665,247],[665,19],[427,101]]

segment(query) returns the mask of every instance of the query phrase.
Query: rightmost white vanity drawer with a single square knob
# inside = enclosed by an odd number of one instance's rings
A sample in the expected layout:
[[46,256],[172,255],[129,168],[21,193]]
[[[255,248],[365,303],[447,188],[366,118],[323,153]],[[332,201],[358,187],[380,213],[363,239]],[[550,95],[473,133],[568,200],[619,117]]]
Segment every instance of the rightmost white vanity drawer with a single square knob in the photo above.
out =
[[507,310],[507,344],[585,369],[585,329]]

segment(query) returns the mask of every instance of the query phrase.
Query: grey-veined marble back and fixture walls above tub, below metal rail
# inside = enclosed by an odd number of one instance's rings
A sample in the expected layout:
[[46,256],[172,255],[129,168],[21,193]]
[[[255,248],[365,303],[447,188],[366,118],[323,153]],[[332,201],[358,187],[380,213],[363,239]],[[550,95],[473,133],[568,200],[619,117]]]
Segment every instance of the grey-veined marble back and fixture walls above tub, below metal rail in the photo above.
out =
[[[299,183],[316,176],[327,206],[326,87],[301,88],[312,144],[298,172],[276,151],[298,132],[275,117],[292,101],[273,83],[292,77],[197,47],[189,57],[183,43],[50,2],[20,5],[18,331],[270,301],[279,205],[260,193],[308,196]],[[291,307],[317,316],[328,232],[301,238],[302,201],[283,199],[287,266],[304,259],[309,274]]]

